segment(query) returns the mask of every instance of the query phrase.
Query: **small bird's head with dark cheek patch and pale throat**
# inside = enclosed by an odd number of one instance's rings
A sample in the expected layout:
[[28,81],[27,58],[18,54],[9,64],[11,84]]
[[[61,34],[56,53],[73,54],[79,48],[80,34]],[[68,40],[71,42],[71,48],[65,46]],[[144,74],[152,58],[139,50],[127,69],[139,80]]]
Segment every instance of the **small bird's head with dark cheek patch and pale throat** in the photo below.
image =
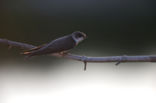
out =
[[75,31],[71,35],[74,41],[76,42],[76,45],[78,45],[81,41],[83,41],[87,37],[85,33],[80,32],[80,31]]

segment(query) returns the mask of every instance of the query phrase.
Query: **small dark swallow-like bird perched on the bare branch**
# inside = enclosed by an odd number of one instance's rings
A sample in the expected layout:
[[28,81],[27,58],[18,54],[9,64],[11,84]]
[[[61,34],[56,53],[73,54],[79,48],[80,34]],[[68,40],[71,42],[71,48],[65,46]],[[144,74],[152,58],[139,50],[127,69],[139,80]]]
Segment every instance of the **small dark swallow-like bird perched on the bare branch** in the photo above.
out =
[[63,55],[69,52],[69,50],[76,47],[80,42],[86,39],[86,37],[87,35],[85,33],[80,31],[75,31],[66,36],[59,37],[55,40],[52,40],[48,44],[43,44],[35,48],[32,48],[28,51],[25,51],[23,54],[26,55],[26,57],[46,55],[46,54],[56,54],[56,53]]

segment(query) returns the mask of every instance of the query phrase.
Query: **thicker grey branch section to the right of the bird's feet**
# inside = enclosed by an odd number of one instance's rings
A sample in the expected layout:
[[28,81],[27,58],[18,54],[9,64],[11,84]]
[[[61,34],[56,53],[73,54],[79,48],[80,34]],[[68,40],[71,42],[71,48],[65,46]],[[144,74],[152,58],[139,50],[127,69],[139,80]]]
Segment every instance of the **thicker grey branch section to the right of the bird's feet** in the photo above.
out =
[[[84,61],[84,56],[68,54],[64,57],[78,61]],[[109,56],[109,57],[85,57],[86,62],[156,62],[156,56]]]

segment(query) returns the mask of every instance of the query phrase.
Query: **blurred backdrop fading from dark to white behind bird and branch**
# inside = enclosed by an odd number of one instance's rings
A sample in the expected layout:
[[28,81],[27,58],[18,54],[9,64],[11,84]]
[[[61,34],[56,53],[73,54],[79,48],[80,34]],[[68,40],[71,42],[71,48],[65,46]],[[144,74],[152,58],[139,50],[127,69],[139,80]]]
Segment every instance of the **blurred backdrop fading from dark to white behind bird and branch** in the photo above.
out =
[[[0,0],[0,38],[40,45],[73,31],[86,56],[156,55],[155,0]],[[0,44],[0,103],[156,103],[156,63],[24,60]],[[4,102],[3,102],[4,101]]]

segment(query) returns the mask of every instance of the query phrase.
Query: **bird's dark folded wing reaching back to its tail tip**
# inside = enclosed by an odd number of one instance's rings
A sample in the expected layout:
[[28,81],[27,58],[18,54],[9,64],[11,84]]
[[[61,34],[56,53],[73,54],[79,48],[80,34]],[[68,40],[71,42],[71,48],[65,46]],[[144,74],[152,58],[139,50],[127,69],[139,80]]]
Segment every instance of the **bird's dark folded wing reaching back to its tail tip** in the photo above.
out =
[[34,55],[45,55],[49,53],[62,52],[64,50],[72,49],[75,46],[75,42],[70,36],[64,36],[55,39],[42,47],[34,48],[31,51],[24,52],[25,55],[31,57]]

